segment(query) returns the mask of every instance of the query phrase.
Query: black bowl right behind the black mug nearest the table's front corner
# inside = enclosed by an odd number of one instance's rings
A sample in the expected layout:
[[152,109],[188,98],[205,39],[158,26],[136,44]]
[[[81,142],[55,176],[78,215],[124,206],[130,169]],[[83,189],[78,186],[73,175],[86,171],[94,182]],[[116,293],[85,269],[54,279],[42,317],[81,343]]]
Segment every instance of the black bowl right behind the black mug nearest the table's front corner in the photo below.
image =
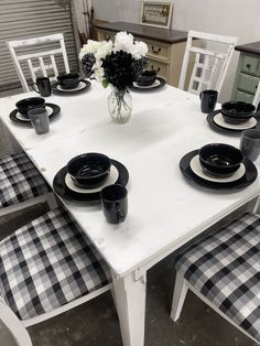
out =
[[108,177],[111,161],[108,156],[89,152],[73,158],[67,163],[67,173],[77,186],[94,188]]

